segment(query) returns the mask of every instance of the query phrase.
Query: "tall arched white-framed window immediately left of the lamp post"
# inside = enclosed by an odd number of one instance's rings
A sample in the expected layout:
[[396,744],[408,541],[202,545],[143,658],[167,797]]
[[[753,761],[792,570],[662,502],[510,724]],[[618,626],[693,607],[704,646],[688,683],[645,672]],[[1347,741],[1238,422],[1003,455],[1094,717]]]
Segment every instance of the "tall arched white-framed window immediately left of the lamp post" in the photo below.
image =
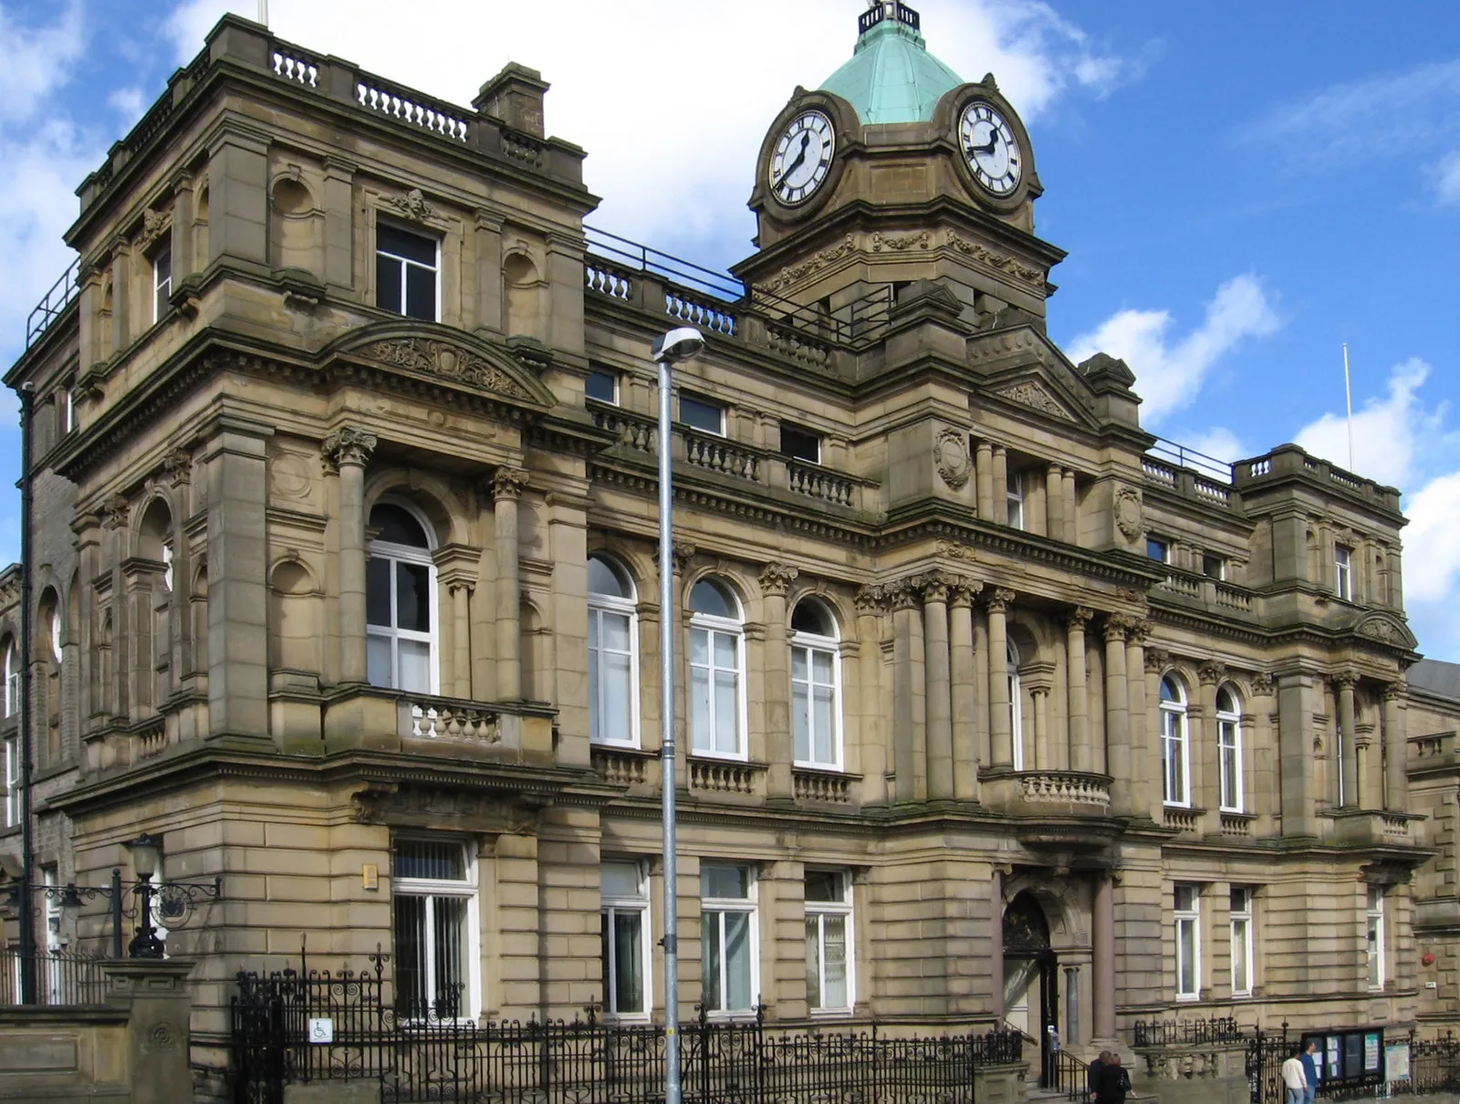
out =
[[638,625],[634,583],[588,556],[588,739],[638,746]]

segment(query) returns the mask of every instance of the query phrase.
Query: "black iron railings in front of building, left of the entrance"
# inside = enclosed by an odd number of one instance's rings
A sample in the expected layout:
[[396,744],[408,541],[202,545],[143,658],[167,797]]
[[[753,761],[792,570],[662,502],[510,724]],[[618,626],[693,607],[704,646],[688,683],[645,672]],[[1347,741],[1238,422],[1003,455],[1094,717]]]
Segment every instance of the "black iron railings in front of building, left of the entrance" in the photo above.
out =
[[[397,1015],[385,1000],[384,957],[362,973],[285,970],[238,975],[234,1100],[282,1104],[291,1082],[371,1079],[387,1104],[658,1104],[664,1028],[587,1019],[474,1024]],[[1019,1062],[1018,1032],[912,1024],[837,1031],[750,1021],[679,1030],[686,1104],[972,1104],[974,1069]],[[311,1041],[312,1040],[312,1041]]]

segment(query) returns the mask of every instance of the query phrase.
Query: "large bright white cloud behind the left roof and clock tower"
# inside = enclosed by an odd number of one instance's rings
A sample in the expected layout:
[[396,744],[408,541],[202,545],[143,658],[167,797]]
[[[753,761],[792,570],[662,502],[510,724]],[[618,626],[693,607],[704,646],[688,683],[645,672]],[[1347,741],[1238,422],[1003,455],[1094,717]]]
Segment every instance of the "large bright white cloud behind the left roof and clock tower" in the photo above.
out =
[[[584,175],[604,199],[591,223],[666,248],[714,242],[739,258],[750,251],[745,200],[761,139],[797,85],[818,86],[851,57],[857,7],[416,0],[403,19],[397,0],[273,0],[269,15],[291,42],[456,104],[469,104],[510,60],[540,70],[553,85],[549,133],[588,150]],[[1137,63],[1098,48],[1045,3],[926,0],[918,9],[929,50],[967,80],[991,70],[1026,120],[1063,95],[1105,95],[1139,74]],[[174,9],[166,34],[180,63],[225,10],[251,19],[257,6],[184,0]]]

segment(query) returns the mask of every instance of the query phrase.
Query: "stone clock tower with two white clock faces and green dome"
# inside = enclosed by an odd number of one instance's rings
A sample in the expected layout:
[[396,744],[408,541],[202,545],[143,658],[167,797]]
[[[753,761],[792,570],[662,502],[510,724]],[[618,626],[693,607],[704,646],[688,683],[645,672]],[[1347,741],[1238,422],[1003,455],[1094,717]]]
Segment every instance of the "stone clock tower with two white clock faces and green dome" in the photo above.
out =
[[964,82],[927,51],[914,9],[876,0],[853,57],[771,123],[750,193],[759,251],[734,272],[768,307],[847,324],[936,280],[972,326],[1042,329],[1064,253],[1034,235],[1040,193],[993,74]]

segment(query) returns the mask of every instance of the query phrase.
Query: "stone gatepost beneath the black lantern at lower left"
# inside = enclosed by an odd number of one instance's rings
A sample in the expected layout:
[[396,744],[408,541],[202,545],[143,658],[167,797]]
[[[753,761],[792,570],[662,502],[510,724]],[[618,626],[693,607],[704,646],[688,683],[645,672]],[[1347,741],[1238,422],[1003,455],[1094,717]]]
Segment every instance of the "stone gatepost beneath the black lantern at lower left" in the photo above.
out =
[[114,958],[107,974],[107,1003],[127,1009],[127,1056],[114,1056],[131,1081],[131,1104],[193,1100],[188,1019],[193,999],[191,958]]

